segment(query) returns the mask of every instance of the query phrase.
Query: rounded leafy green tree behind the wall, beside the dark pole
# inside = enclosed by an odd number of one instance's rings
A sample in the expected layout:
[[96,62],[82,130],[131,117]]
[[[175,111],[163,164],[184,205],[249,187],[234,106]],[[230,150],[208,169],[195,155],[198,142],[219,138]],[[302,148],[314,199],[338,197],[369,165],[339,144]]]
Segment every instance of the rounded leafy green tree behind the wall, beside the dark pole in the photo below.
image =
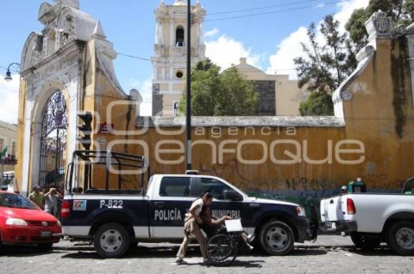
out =
[[[231,67],[220,73],[220,67],[205,59],[191,70],[191,115],[254,115],[258,94],[253,85]],[[186,111],[186,94],[181,96],[180,113]]]

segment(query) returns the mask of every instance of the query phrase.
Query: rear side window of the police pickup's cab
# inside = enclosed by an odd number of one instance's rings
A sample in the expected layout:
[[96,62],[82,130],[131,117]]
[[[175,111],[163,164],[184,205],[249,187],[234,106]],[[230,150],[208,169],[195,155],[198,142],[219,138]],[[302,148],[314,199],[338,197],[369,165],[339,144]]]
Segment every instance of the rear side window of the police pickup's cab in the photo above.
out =
[[190,178],[164,177],[161,181],[160,196],[190,197]]

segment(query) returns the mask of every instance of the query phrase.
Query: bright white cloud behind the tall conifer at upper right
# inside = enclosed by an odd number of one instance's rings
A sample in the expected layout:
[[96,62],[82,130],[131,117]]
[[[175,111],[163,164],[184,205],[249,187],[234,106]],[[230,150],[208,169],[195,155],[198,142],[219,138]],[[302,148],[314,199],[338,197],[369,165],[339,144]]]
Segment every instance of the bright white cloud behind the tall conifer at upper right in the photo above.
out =
[[[352,12],[355,9],[368,6],[369,0],[353,0],[350,2],[343,2],[338,4],[339,12],[334,15],[335,19],[339,21],[340,31],[345,31],[345,24],[351,17]],[[320,22],[319,22],[320,23]],[[297,79],[296,70],[285,70],[295,68],[293,59],[301,56],[302,48],[301,42],[308,40],[306,35],[307,26],[301,26],[295,32],[289,34],[282,42],[277,46],[276,54],[270,55],[270,67],[266,69],[267,73],[274,74],[289,74],[291,79]],[[320,32],[317,34],[317,41],[321,41],[322,37]]]

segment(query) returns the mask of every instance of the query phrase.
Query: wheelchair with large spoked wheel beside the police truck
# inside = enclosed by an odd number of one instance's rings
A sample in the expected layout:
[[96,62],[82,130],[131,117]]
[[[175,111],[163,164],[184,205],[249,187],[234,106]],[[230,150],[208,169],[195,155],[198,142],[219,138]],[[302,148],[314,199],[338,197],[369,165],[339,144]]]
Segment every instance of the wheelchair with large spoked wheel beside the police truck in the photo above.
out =
[[207,258],[212,265],[225,266],[237,257],[239,247],[244,242],[243,230],[228,231],[223,226],[216,234],[206,239]]

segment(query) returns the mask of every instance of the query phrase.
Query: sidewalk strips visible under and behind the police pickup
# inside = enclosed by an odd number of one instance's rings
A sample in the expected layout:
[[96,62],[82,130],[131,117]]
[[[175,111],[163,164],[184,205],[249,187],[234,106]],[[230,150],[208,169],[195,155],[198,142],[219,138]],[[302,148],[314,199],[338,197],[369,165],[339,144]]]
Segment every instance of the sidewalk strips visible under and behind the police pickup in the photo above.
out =
[[[139,246],[145,246],[149,248],[159,248],[159,247],[179,247],[179,244],[161,242],[161,243],[139,243]],[[352,242],[349,236],[342,237],[337,235],[320,235],[318,240],[315,242],[305,241],[304,243],[295,243],[297,248],[349,248],[353,247],[354,243]],[[55,250],[77,250],[77,251],[88,251],[94,250],[94,246],[89,242],[80,242],[80,241],[69,241],[61,240],[60,242],[53,245]]]

